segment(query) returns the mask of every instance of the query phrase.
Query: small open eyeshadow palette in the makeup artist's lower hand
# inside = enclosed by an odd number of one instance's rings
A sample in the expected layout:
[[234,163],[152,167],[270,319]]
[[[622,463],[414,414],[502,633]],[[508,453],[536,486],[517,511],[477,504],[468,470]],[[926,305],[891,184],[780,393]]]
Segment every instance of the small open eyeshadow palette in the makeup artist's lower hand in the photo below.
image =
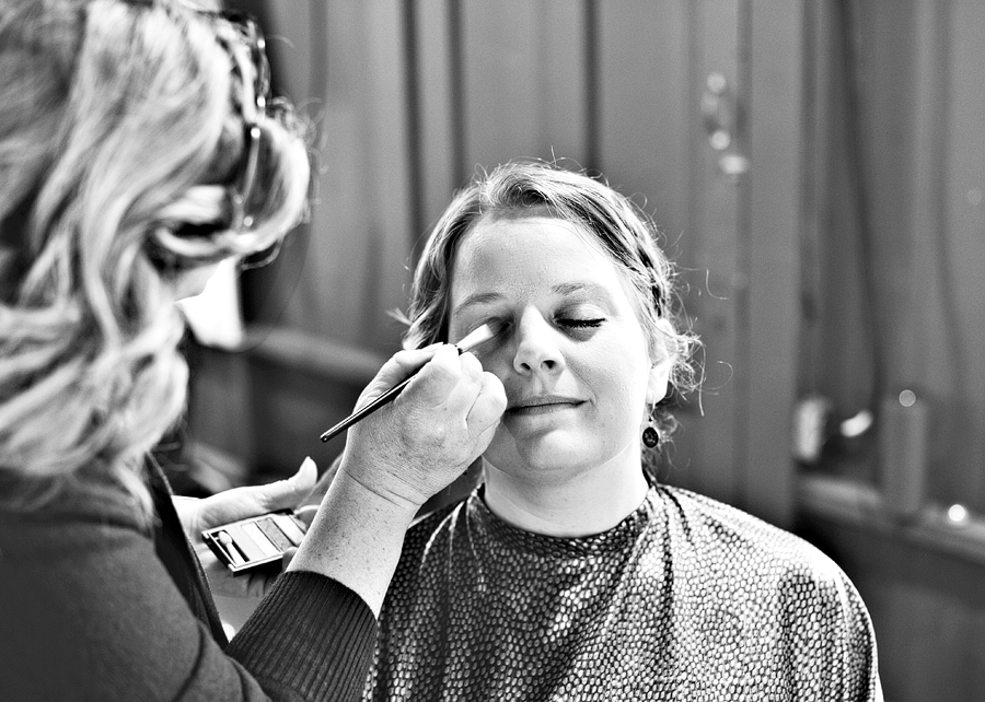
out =
[[297,548],[308,529],[292,512],[270,512],[232,522],[201,533],[201,538],[220,562],[243,573],[262,565],[280,565],[283,552]]

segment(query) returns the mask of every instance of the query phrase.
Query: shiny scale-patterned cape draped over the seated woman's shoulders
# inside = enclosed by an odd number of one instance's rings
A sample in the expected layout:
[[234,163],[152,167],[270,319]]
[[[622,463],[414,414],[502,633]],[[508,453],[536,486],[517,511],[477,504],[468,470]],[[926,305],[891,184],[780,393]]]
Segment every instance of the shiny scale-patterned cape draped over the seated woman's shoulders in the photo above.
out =
[[670,487],[575,539],[508,525],[480,487],[412,528],[380,624],[366,700],[878,699],[841,569]]

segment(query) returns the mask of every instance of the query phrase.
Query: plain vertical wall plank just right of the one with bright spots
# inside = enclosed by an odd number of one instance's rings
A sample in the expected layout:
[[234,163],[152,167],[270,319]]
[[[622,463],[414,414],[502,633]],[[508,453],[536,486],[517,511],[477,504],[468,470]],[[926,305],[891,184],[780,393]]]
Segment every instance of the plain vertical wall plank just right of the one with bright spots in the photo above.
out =
[[790,447],[800,319],[793,291],[800,276],[803,3],[758,0],[749,8],[752,165],[749,221],[740,224],[748,226],[749,258],[739,266],[748,314],[738,321],[749,381],[735,408],[748,444],[734,502],[787,526],[793,520]]

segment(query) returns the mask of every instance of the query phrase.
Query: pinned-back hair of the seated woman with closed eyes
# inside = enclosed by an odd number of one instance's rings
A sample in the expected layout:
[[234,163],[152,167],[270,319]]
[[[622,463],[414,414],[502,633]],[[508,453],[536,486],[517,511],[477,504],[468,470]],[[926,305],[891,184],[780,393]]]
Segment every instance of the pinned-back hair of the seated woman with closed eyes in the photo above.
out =
[[[564,220],[595,238],[629,282],[651,358],[669,353],[673,360],[672,386],[682,394],[693,389],[691,355],[697,339],[684,330],[674,291],[675,269],[657,246],[659,233],[652,220],[601,179],[540,161],[500,165],[455,195],[418,260],[404,346],[419,348],[448,341],[451,270],[465,234],[479,220],[528,215]],[[664,406],[658,405],[652,417],[662,436],[675,428]]]

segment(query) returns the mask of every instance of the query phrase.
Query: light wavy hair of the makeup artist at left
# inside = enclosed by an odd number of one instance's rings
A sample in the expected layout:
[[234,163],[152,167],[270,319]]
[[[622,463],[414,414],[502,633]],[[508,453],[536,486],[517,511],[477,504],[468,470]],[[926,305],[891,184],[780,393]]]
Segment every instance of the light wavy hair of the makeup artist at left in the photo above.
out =
[[255,119],[251,224],[231,229],[246,40],[182,0],[0,4],[4,506],[95,471],[146,508],[143,459],[185,403],[177,278],[275,246],[304,213],[306,144],[280,103]]

